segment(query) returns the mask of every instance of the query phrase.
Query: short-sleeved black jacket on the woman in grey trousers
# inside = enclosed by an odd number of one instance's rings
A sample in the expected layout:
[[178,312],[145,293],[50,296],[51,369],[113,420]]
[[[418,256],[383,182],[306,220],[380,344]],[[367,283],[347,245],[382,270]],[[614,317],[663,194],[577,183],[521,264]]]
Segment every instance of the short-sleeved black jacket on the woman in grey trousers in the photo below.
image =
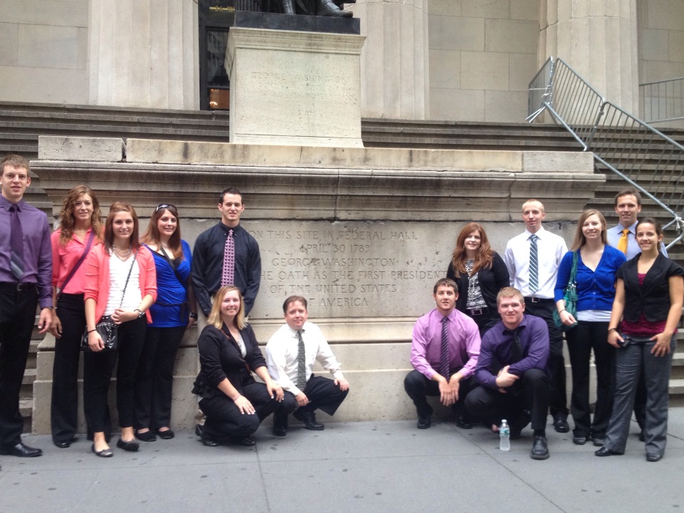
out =
[[615,274],[625,284],[623,318],[629,322],[637,322],[643,312],[648,321],[665,321],[670,311],[670,276],[684,276],[684,270],[659,253],[640,286],[637,274],[640,257],[641,253],[626,261]]

